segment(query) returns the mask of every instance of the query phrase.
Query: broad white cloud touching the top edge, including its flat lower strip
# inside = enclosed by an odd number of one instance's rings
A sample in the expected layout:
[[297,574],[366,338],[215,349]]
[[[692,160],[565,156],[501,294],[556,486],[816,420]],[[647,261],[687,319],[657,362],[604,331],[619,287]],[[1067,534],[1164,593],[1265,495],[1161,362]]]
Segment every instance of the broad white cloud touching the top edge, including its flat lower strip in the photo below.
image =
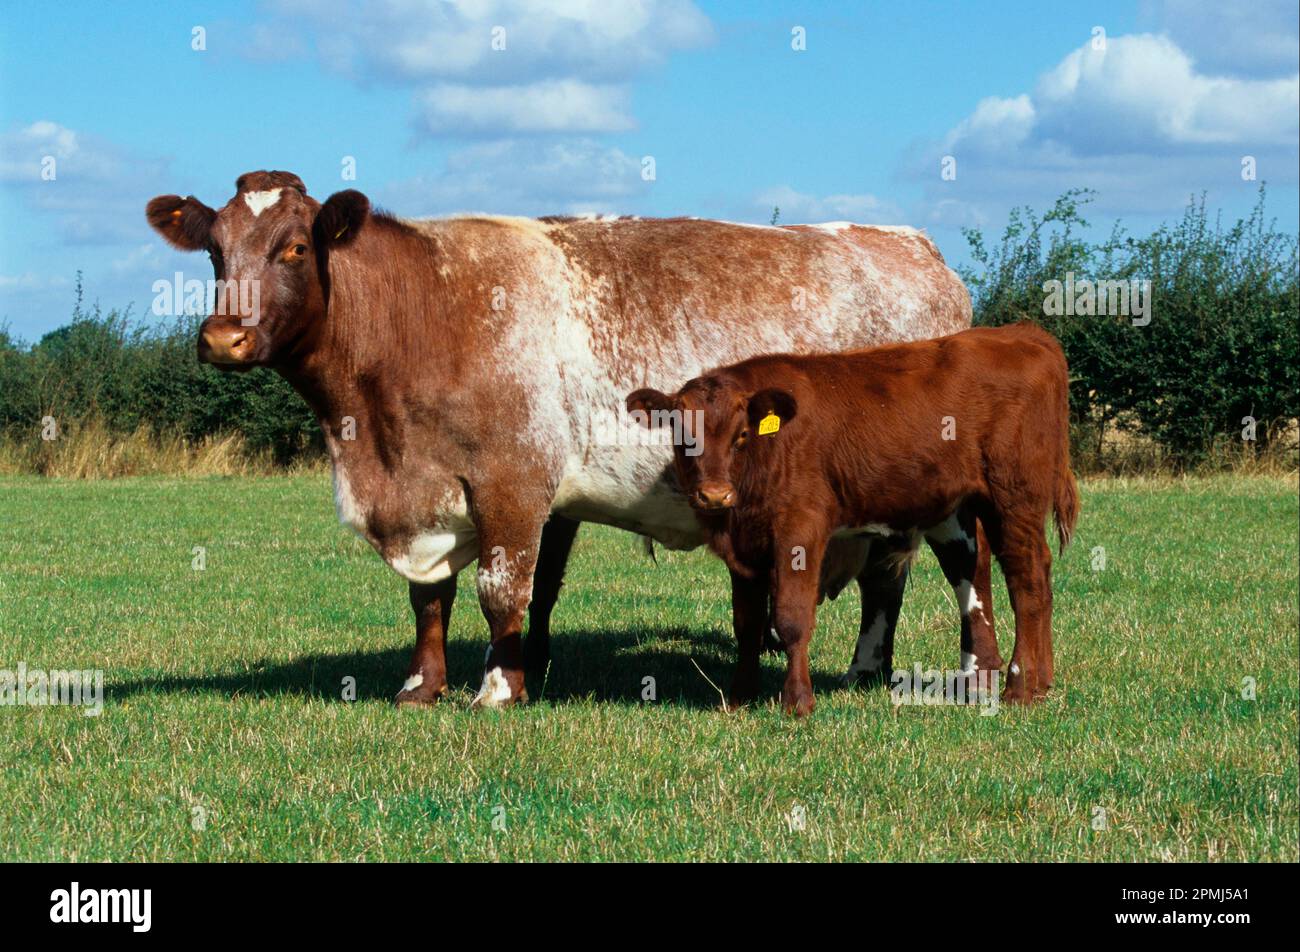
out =
[[690,0],[281,0],[270,10],[255,38],[306,35],[325,69],[413,88],[417,127],[447,135],[630,129],[627,85],[714,38]]

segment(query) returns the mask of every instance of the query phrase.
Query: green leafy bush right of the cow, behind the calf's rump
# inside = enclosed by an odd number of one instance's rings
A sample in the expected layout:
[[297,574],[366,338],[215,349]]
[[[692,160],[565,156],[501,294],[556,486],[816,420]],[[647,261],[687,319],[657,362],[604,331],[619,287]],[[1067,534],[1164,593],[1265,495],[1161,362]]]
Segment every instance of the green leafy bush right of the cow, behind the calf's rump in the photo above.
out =
[[[1251,215],[1231,228],[1209,218],[1202,198],[1175,225],[1132,238],[1115,224],[1100,243],[1079,237],[1091,198],[1066,192],[1041,217],[1013,211],[992,250],[980,231],[965,231],[975,267],[962,277],[975,323],[1032,320],[1061,339],[1076,442],[1096,441],[1084,451],[1118,428],[1193,466],[1225,441],[1240,441],[1247,416],[1268,447],[1300,415],[1300,285],[1296,237],[1265,218],[1264,187]],[[1044,313],[1046,282],[1063,282],[1069,272],[1076,281],[1149,281],[1149,324]]]

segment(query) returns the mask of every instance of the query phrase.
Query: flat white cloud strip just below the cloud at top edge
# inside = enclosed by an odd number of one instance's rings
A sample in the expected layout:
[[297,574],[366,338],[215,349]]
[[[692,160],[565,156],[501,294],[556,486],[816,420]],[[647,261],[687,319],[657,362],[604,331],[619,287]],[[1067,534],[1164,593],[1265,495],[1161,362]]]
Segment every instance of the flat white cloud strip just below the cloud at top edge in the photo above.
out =
[[608,133],[632,129],[627,90],[576,79],[530,86],[439,83],[420,96],[430,133]]

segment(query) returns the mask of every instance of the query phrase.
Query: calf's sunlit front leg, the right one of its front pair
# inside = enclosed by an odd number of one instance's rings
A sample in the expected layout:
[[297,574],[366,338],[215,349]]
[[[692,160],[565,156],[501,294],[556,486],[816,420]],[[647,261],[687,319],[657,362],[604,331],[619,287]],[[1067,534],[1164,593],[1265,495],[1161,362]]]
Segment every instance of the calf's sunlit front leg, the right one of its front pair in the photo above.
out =
[[772,626],[785,645],[788,665],[781,688],[781,709],[803,717],[812,713],[812,678],[809,674],[809,644],[816,623],[816,600],[826,554],[826,533],[812,519],[794,532],[777,532],[772,566],[775,597]]

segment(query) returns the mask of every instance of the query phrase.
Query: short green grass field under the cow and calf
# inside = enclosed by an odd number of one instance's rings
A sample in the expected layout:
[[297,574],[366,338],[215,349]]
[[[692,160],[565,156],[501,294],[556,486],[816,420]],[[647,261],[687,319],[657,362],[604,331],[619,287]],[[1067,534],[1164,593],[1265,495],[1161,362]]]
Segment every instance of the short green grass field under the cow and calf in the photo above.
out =
[[[0,858],[1296,861],[1297,520],[1294,479],[1086,484],[1048,702],[837,689],[850,590],[819,614],[806,722],[716,710],[720,563],[584,527],[540,702],[467,710],[467,575],[455,696],[398,711],[406,585],[334,522],[328,477],[4,479],[0,668],[103,668],[107,698],[0,707]],[[928,553],[898,629],[914,662],[957,662]]]

